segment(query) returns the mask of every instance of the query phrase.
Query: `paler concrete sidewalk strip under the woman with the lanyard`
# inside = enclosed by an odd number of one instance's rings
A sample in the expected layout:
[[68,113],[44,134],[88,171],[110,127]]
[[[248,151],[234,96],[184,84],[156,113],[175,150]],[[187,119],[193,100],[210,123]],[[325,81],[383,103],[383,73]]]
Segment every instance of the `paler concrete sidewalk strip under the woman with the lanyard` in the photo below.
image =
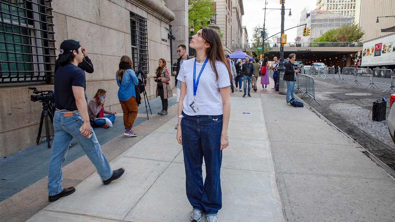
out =
[[[259,95],[231,98],[231,145],[223,152],[220,221],[284,221]],[[175,123],[173,114],[111,162],[113,168],[126,170],[119,180],[103,186],[94,173],[76,186],[74,194],[49,204],[27,221],[189,221],[192,207],[185,195]]]

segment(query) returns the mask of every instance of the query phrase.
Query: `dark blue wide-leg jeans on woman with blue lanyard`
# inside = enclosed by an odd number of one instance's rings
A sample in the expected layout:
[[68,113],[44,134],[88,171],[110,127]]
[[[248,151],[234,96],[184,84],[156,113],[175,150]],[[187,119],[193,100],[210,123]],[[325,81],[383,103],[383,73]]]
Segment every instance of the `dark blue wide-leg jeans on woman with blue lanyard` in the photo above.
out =
[[[222,163],[222,115],[188,116],[182,113],[182,150],[186,196],[194,209],[216,215],[222,208],[220,169]],[[206,178],[203,183],[203,158]]]

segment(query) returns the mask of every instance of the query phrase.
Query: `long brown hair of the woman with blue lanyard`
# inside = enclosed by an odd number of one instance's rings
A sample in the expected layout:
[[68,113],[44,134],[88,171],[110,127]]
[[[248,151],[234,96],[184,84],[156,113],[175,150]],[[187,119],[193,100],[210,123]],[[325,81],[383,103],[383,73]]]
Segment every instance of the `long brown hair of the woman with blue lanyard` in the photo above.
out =
[[220,61],[226,66],[226,68],[228,69],[229,79],[231,79],[230,69],[226,62],[224,48],[222,47],[221,38],[218,35],[218,32],[207,27],[203,27],[201,28],[201,30],[201,36],[203,40],[210,44],[210,47],[206,48],[206,54],[207,56],[209,56],[209,59],[211,61],[211,68],[215,73],[216,80],[218,80],[218,71],[215,66],[216,61]]

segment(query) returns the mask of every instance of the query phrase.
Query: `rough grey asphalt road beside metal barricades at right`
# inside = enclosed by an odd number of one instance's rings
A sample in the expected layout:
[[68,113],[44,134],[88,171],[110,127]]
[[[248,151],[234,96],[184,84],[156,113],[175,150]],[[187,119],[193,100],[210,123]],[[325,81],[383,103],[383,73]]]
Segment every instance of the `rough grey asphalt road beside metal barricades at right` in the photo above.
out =
[[[348,134],[376,158],[384,162],[395,171],[395,145],[389,135],[387,120],[381,122],[372,121],[373,102],[385,97],[387,99],[386,117],[389,115],[389,96],[393,92],[382,92],[387,88],[365,89],[365,85],[353,85],[349,83],[335,83],[318,77],[314,78],[316,100],[310,105],[326,119],[331,121],[340,130]],[[302,96],[297,93],[297,96]],[[303,98],[307,104],[308,96]],[[365,153],[370,157],[369,153]]]

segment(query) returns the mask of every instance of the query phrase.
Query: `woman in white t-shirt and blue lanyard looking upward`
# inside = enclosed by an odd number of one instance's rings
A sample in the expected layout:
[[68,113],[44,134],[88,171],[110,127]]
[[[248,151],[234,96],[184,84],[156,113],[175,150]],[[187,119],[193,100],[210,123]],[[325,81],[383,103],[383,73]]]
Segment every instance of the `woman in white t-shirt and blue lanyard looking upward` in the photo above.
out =
[[[190,220],[217,222],[222,208],[220,168],[228,147],[230,78],[218,32],[202,28],[192,36],[196,58],[181,66],[177,136],[184,153],[186,196],[193,207]],[[202,164],[206,177],[203,182]]]

